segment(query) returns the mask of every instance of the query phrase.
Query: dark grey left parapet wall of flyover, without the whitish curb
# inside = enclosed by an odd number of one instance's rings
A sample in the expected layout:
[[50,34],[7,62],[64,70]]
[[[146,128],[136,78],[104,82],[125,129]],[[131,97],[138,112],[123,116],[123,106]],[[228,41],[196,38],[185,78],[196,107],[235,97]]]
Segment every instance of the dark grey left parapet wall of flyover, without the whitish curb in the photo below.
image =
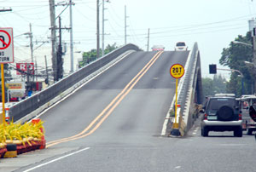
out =
[[37,110],[40,106],[48,104],[50,100],[53,100],[56,96],[61,95],[65,90],[70,89],[76,83],[79,83],[84,77],[89,76],[93,72],[96,72],[102,66],[106,66],[109,62],[124,54],[126,51],[140,49],[134,44],[126,44],[125,46],[115,49],[109,54],[106,54],[102,58],[90,63],[87,66],[80,68],[77,72],[73,72],[71,75],[62,78],[60,81],[49,86],[47,89],[32,95],[26,100],[22,100],[9,108],[9,118],[14,122],[20,118],[25,117],[27,114]]

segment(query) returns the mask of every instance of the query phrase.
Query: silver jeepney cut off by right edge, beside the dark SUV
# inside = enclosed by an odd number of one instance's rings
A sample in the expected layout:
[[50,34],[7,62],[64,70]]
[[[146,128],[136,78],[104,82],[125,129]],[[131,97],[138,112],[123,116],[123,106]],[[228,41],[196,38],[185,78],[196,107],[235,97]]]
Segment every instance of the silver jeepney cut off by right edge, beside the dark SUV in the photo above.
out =
[[256,131],[256,122],[249,114],[251,106],[256,106],[256,95],[242,95],[240,98],[242,129],[247,131],[247,135],[253,135],[253,131]]

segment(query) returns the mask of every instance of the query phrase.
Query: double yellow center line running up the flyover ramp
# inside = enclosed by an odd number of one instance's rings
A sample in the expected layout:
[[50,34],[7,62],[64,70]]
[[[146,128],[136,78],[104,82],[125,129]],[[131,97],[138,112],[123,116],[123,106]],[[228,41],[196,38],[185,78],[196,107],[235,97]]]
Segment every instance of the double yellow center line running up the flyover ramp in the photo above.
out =
[[[49,146],[54,146],[57,144],[60,144],[62,142],[67,142],[70,140],[77,140],[80,138],[83,138],[85,136],[91,135],[96,129],[98,129],[100,127],[100,125],[106,120],[106,118],[108,118],[108,116],[111,114],[111,112],[113,112],[113,110],[115,109],[116,106],[119,105],[119,103],[121,102],[121,100],[123,100],[125,98],[126,95],[128,95],[128,93],[131,91],[131,89],[135,86],[135,84],[141,79],[141,77],[143,77],[143,75],[148,72],[148,69],[154,64],[155,60],[157,60],[160,55],[163,52],[157,52],[156,54],[154,54],[154,57],[148,61],[148,63],[146,64],[146,66],[143,67],[143,69],[137,73],[137,76],[133,77],[131,79],[131,82],[128,83],[125,86],[125,89],[123,89],[119,95],[117,95],[109,104],[108,106],[88,125],[88,127],[86,127],[82,132],[80,132],[78,135],[73,135],[71,137],[67,137],[67,138],[63,138],[60,140],[53,140],[53,141],[49,141],[47,143],[46,147]],[[136,81],[135,81],[136,80]],[[132,83],[132,84],[131,84]],[[131,86],[131,87],[130,87]],[[129,88],[130,87],[130,88]],[[129,89],[128,89],[129,88]],[[125,92],[126,91],[126,92]],[[125,93],[125,94],[124,94]],[[120,97],[121,96],[121,97]],[[120,97],[120,99],[119,99]],[[119,99],[119,100],[118,100]],[[117,101],[116,101],[117,100]],[[115,103],[116,102],[116,103]],[[112,107],[111,107],[112,106]],[[111,108],[110,108],[111,107]],[[110,110],[108,111],[108,109],[110,108]],[[105,112],[107,112],[106,115],[102,118],[103,114],[105,114]],[[96,123],[100,118],[102,118],[98,123]],[[85,132],[87,132],[90,128],[92,128],[92,126],[96,123],[96,126],[90,130],[89,133],[85,134]]]

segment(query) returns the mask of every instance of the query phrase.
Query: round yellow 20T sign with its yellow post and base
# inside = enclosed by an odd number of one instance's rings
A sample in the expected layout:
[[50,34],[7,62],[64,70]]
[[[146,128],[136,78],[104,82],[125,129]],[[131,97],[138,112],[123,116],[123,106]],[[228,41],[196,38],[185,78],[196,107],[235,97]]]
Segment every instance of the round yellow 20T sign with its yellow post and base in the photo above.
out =
[[175,121],[172,127],[172,135],[179,135],[178,123],[177,123],[177,79],[183,77],[184,67],[180,64],[174,64],[170,68],[171,76],[176,78],[176,91],[175,91]]

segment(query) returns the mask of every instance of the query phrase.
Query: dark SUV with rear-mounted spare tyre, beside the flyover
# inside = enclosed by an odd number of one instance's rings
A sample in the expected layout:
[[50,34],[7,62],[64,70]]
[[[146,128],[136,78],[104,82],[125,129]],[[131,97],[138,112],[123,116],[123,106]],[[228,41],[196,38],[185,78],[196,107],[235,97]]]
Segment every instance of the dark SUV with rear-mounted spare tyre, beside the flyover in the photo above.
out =
[[239,102],[235,97],[210,97],[204,107],[201,120],[201,135],[209,131],[234,131],[234,136],[242,136]]

